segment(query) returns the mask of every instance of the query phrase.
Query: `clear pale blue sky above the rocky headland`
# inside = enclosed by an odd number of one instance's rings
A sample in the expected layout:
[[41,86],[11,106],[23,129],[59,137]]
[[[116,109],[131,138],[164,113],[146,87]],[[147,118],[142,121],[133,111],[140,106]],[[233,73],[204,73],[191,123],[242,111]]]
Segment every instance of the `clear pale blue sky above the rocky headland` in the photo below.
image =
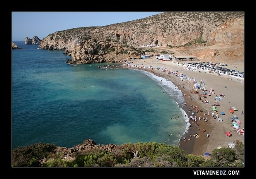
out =
[[43,39],[56,31],[106,26],[142,19],[162,12],[12,12],[12,41]]

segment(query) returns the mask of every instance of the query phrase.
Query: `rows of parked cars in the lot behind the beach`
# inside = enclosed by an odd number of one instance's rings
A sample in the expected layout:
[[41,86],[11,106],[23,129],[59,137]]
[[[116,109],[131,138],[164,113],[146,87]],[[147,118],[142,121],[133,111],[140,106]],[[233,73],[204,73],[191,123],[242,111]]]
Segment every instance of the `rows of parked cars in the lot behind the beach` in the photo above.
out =
[[[220,65],[221,64],[221,65]],[[183,63],[183,65],[193,65],[193,66],[196,66],[196,67],[199,67],[199,68],[210,68],[212,69],[213,71],[215,71],[216,73],[225,73],[225,72],[228,72],[230,73],[231,72],[231,75],[234,75],[235,76],[239,76],[239,77],[244,77],[244,72],[239,72],[238,70],[230,70],[228,68],[223,68],[222,65],[223,63],[210,63],[210,62],[190,62],[190,63]],[[224,66],[227,66],[226,63],[224,63]]]

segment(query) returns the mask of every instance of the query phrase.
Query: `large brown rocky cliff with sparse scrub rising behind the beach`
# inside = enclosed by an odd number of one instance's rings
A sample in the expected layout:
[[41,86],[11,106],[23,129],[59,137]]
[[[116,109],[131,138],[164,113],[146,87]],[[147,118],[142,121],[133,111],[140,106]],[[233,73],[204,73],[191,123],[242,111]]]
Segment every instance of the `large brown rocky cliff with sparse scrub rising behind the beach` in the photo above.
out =
[[39,48],[65,50],[71,53],[72,63],[102,63],[138,56],[143,53],[140,46],[148,44],[177,49],[196,46],[202,50],[224,44],[225,50],[218,51],[220,56],[243,58],[244,13],[165,12],[104,27],[55,32],[43,38]]

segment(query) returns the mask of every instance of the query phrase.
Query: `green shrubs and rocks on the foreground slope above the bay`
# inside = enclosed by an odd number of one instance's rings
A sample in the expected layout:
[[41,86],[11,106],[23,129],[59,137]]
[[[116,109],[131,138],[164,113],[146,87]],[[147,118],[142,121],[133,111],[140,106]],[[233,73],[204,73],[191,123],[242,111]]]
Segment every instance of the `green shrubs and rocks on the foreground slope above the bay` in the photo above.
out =
[[211,157],[185,155],[177,146],[162,143],[96,145],[85,140],[75,148],[36,143],[12,151],[13,167],[243,167],[244,145],[215,149]]

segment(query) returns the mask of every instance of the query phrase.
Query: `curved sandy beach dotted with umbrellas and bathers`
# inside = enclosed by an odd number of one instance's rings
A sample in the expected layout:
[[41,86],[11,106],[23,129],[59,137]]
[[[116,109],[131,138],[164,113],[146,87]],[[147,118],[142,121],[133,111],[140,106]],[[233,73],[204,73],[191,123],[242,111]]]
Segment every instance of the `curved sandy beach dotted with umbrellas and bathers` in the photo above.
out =
[[[184,136],[186,136],[187,139],[189,139],[189,135],[191,134],[191,140],[187,140],[186,142],[180,141],[180,147],[183,148],[186,151],[186,154],[192,153],[195,155],[203,155],[205,152],[211,153],[214,149],[216,149],[218,146],[220,147],[227,147],[227,144],[229,141],[234,142],[235,140],[240,140],[244,142],[244,135],[240,135],[237,133],[237,130],[232,129],[232,117],[236,115],[238,119],[241,121],[240,129],[244,129],[244,114],[241,114],[243,111],[244,113],[244,80],[228,80],[226,75],[218,76],[217,73],[204,73],[204,71],[195,72],[190,70],[184,70],[183,65],[176,65],[172,63],[172,61],[160,61],[154,58],[148,58],[148,59],[141,59],[141,60],[131,60],[131,65],[137,65],[137,66],[146,66],[147,68],[138,68],[140,70],[147,70],[148,72],[154,73],[157,76],[164,77],[171,82],[173,82],[186,96],[184,96],[186,100],[186,106],[182,107],[184,111],[186,111],[188,116],[192,115],[192,109],[191,105],[197,106],[196,108],[201,108],[202,112],[196,113],[197,121],[199,123],[198,126],[196,126],[196,123],[191,123],[191,128],[188,129],[188,133],[186,133]],[[153,66],[153,69],[149,69],[149,66]],[[244,71],[244,64],[236,65],[237,68],[239,68],[239,71]],[[156,67],[160,67],[159,70],[155,69]],[[166,72],[162,72],[161,68],[166,68]],[[137,67],[136,67],[137,68]],[[228,68],[231,68],[228,66]],[[190,93],[191,91],[194,91],[195,88],[193,88],[193,83],[191,80],[189,80],[189,83],[186,81],[181,81],[179,77],[176,77],[175,75],[168,74],[168,71],[176,71],[178,70],[179,73],[183,73],[183,75],[187,75],[189,78],[196,78],[197,82],[200,82],[200,80],[203,80],[205,82],[204,87],[207,89],[207,93],[209,92],[210,88],[212,88],[215,92],[215,94],[208,96],[204,98],[205,100],[210,101],[210,104],[206,104],[205,102],[202,102],[201,100],[198,100],[198,97],[201,97],[203,95],[202,92],[200,92],[200,89],[198,89],[197,94]],[[218,119],[214,119],[212,117],[212,107],[213,103],[215,102],[216,95],[220,97],[219,94],[223,94],[224,97],[220,99],[219,104],[220,106],[217,106],[217,112],[215,114],[218,114],[220,118],[223,119],[223,122],[218,121]],[[191,96],[192,98],[195,97],[195,99],[188,98],[188,96]],[[234,111],[234,113],[229,112],[229,108],[235,106],[238,110]],[[191,109],[190,112],[188,112],[188,109]],[[209,116],[207,116],[207,113],[210,113]],[[224,112],[225,115],[221,115],[220,113]],[[203,121],[204,113],[206,113],[205,117],[207,117],[207,122]],[[200,121],[198,121],[199,116],[201,116]],[[195,117],[195,115],[193,116]],[[228,118],[231,119],[228,119]],[[198,127],[200,130],[198,131]],[[205,132],[203,132],[203,129]],[[232,136],[227,136],[226,132],[232,133]],[[200,135],[199,138],[193,137],[195,134]],[[207,133],[209,134],[209,137],[207,138]],[[183,136],[182,136],[183,138]]]

